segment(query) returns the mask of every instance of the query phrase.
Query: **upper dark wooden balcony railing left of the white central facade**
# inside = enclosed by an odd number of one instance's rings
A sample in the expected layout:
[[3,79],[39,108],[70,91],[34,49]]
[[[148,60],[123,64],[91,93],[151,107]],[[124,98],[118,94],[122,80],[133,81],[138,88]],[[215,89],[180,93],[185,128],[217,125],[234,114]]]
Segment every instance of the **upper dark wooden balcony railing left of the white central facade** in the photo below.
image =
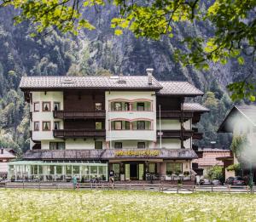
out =
[[53,111],[58,119],[105,118],[106,111]]

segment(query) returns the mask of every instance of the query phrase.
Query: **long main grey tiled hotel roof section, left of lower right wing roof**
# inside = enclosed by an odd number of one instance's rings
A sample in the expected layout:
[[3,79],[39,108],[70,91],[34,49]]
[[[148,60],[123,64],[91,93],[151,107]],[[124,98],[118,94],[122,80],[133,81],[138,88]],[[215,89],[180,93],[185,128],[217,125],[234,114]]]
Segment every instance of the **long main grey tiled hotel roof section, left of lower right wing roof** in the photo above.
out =
[[44,88],[140,88],[160,89],[162,86],[152,77],[148,84],[148,76],[133,77],[22,77],[20,89]]

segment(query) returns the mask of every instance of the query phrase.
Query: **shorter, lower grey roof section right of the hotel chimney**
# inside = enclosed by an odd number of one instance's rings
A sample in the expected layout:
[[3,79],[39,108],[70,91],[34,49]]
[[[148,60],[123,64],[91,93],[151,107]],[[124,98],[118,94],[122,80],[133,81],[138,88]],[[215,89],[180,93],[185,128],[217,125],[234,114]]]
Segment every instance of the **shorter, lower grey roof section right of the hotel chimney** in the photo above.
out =
[[197,96],[203,95],[204,93],[195,88],[188,82],[177,82],[177,81],[160,81],[162,89],[158,92],[160,95],[186,95],[186,96]]

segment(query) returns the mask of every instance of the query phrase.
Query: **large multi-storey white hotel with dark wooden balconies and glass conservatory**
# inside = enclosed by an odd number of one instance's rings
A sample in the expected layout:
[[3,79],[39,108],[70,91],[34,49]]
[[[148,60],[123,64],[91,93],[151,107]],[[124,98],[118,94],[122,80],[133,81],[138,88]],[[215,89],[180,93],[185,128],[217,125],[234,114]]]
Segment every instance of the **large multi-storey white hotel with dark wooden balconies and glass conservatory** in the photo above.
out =
[[187,82],[145,76],[22,77],[31,145],[9,162],[9,179],[168,179],[191,174],[195,124],[207,108]]

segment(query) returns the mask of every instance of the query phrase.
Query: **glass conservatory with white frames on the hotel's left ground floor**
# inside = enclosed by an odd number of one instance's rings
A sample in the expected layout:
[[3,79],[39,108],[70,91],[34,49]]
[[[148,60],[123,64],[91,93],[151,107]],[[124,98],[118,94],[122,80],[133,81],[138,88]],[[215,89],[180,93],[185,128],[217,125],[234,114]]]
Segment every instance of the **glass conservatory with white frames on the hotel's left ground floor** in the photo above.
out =
[[108,181],[108,163],[85,162],[43,162],[17,161],[8,163],[8,177],[11,181],[65,181],[76,177],[85,182],[90,179]]

